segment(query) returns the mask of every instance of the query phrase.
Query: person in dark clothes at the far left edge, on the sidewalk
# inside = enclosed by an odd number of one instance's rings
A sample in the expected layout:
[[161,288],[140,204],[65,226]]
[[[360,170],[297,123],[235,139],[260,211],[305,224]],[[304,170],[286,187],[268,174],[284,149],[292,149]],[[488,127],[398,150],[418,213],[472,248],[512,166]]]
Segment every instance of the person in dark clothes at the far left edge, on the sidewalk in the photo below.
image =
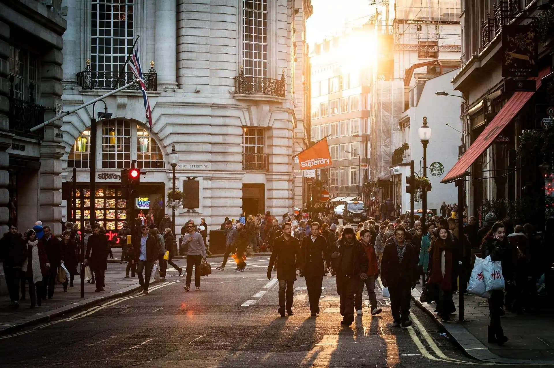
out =
[[0,259],[6,275],[6,284],[9,293],[9,306],[19,307],[19,277],[21,265],[27,258],[27,248],[20,233],[17,232],[17,225],[12,224],[9,232],[0,239]]

